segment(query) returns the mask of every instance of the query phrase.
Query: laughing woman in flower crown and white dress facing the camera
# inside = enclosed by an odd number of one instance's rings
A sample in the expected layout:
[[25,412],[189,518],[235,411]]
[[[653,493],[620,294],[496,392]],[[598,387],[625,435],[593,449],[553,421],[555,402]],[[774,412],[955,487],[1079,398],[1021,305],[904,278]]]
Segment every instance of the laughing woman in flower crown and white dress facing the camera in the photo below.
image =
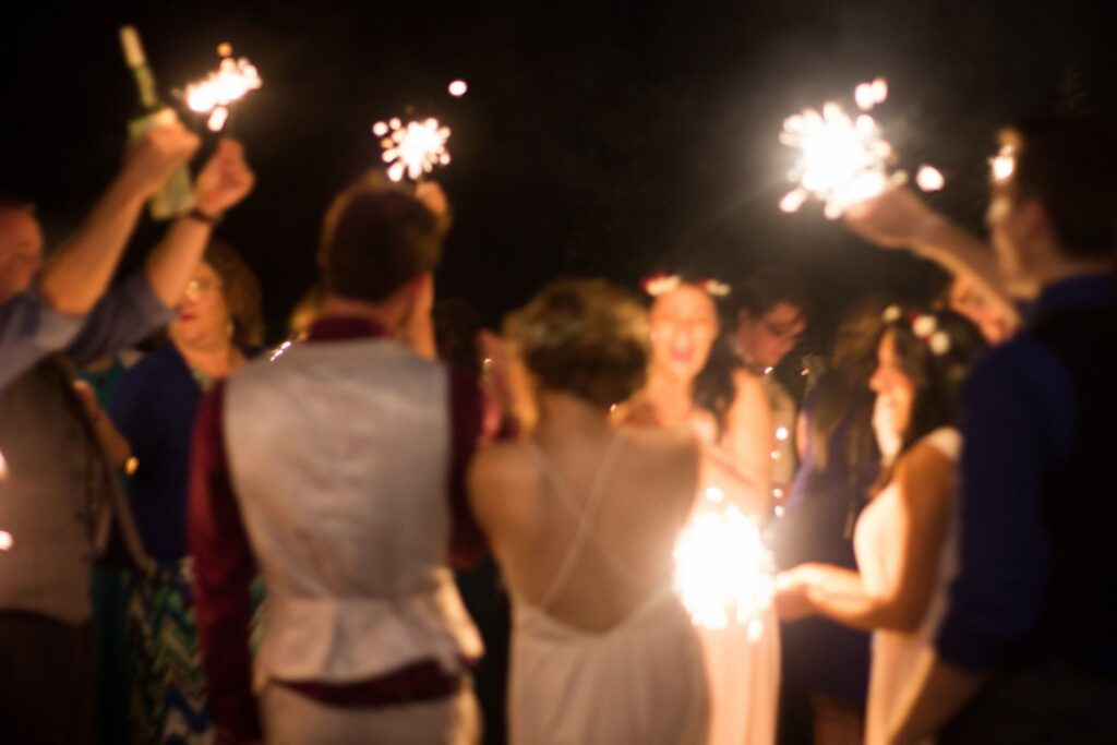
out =
[[[767,519],[773,428],[761,379],[726,360],[718,348],[716,283],[678,277],[646,283],[651,366],[648,383],[624,411],[624,420],[693,431],[703,441],[701,489],[717,487],[726,503],[760,525]],[[701,385],[705,383],[706,385]],[[699,403],[699,400],[701,401]],[[696,503],[696,506],[700,502]],[[710,745],[771,745],[775,741],[780,689],[779,624],[762,619],[760,637],[747,623],[699,628],[710,695]]]

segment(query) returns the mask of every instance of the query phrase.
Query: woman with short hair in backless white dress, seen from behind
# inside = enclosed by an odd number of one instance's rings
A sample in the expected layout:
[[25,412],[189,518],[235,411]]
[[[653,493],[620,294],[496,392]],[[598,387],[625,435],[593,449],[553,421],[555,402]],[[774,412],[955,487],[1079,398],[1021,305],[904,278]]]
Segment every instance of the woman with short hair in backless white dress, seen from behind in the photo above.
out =
[[703,745],[701,649],[672,589],[699,446],[609,419],[645,382],[643,311],[601,283],[558,283],[507,331],[538,419],[481,452],[469,488],[513,599],[510,742]]

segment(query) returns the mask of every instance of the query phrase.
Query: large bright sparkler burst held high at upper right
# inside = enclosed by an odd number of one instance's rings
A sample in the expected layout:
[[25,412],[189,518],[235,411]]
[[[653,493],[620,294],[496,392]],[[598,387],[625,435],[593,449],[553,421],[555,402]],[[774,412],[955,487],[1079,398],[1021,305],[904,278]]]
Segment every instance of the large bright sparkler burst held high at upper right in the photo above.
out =
[[[877,78],[855,89],[853,98],[861,112],[856,117],[828,102],[821,113],[806,108],[784,120],[780,142],[800,150],[802,155],[789,174],[799,185],[784,195],[780,209],[794,212],[813,195],[825,202],[825,216],[834,219],[858,202],[907,179],[904,171],[890,171],[895,151],[880,125],[868,114],[887,97],[888,83]],[[922,189],[933,191],[944,183],[935,169],[920,170]]]

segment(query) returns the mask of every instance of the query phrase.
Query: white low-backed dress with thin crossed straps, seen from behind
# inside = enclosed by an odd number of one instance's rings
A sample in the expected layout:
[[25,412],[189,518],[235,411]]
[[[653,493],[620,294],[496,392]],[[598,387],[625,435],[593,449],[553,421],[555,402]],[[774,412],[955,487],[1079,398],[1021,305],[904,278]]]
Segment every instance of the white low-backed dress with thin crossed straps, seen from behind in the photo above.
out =
[[547,610],[584,552],[598,552],[628,579],[632,572],[601,541],[594,516],[617,441],[602,460],[585,505],[573,498],[550,459],[540,459],[551,490],[577,531],[550,589],[535,604],[513,592],[509,732],[513,745],[703,745],[708,709],[701,649],[665,577],[607,631],[570,627]]

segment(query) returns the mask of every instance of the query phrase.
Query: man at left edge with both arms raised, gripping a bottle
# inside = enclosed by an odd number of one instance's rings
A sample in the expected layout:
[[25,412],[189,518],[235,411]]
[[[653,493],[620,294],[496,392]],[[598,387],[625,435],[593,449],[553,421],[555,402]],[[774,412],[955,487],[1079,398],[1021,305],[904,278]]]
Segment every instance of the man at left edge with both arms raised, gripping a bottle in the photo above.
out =
[[[0,202],[0,727],[6,742],[90,735],[90,562],[112,529],[142,547],[113,490],[70,371],[168,323],[220,213],[252,187],[223,142],[199,174],[197,207],[144,268],[108,288],[146,200],[199,139],[174,123],[133,143],[83,226],[44,266],[25,203]],[[114,519],[115,518],[115,519]]]

